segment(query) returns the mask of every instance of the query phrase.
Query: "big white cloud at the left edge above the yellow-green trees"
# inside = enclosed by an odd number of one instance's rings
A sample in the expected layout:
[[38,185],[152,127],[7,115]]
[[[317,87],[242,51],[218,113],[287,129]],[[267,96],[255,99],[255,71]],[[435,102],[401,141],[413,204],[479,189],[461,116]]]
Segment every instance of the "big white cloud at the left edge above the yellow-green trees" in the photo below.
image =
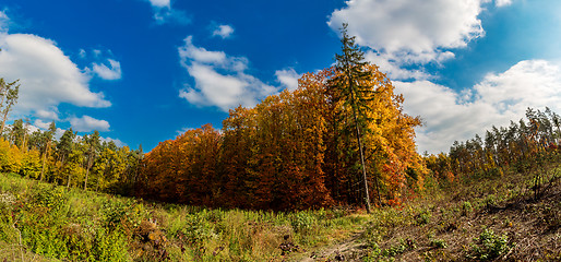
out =
[[52,40],[35,35],[0,36],[0,75],[20,80],[20,115],[56,119],[57,107],[69,103],[80,107],[109,107],[103,93],[89,90],[91,76],[80,70]]

